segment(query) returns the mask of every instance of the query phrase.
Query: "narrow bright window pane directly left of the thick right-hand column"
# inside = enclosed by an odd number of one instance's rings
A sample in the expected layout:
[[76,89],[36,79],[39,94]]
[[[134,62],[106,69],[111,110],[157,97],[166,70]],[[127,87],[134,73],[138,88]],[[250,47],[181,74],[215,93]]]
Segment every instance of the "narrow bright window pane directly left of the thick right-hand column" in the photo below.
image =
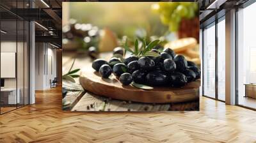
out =
[[225,19],[218,22],[218,99],[225,101]]

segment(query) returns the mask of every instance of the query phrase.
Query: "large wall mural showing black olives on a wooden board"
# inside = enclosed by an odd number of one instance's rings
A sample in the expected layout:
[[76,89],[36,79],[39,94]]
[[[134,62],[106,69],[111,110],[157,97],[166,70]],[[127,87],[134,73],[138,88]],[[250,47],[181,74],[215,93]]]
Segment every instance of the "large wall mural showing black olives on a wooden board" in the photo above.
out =
[[199,110],[198,3],[63,2],[63,110]]

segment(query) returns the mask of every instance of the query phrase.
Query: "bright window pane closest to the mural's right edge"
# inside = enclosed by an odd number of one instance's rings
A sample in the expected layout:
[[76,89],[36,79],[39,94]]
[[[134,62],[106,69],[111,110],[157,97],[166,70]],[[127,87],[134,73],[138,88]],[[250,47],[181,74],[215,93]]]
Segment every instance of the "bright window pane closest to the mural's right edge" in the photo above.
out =
[[215,25],[204,29],[204,95],[215,98]]

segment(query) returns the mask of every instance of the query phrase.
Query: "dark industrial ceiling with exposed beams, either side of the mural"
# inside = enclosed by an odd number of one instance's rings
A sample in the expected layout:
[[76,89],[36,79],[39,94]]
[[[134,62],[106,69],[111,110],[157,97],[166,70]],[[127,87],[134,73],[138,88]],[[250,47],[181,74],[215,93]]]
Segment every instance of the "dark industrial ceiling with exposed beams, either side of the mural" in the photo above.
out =
[[[15,30],[15,26],[12,24],[12,20],[35,20],[38,22],[36,24],[36,40],[37,41],[49,41],[55,42],[58,45],[61,45],[61,19],[62,19],[62,2],[66,1],[96,1],[96,0],[1,0],[0,1],[0,17],[2,22],[6,27],[6,31],[14,33],[12,30]],[[102,0],[99,0],[102,1]],[[103,0],[106,1],[106,0]],[[113,0],[112,0],[113,1]],[[115,0],[114,0],[115,1]],[[116,0],[118,1],[118,0]],[[138,1],[138,0],[129,0],[129,1]],[[148,1],[148,0],[139,0],[139,1]],[[173,0],[173,1],[182,1],[182,0]],[[193,0],[187,0],[193,1]],[[212,17],[220,8],[232,7],[236,4],[244,3],[248,0],[195,0],[199,3],[200,6],[200,23]],[[209,5],[215,5],[218,8],[207,9]],[[219,5],[218,5],[219,4]],[[33,7],[33,8],[31,8]],[[18,24],[19,25],[19,24]],[[48,30],[45,30],[44,27]],[[51,31],[49,33],[49,31]],[[18,30],[18,34],[20,31]],[[52,34],[51,34],[52,33]],[[53,41],[51,41],[53,40]],[[58,41],[58,42],[56,42]]]

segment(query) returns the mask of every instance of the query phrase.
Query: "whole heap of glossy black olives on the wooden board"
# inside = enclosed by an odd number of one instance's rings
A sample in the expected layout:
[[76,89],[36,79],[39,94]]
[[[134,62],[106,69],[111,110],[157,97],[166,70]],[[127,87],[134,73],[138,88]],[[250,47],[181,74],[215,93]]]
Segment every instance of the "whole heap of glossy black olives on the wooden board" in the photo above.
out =
[[[92,63],[93,69],[100,73],[102,78],[108,78],[111,73],[119,78],[123,85],[131,82],[148,86],[182,87],[188,82],[200,78],[200,70],[196,64],[187,61],[184,56],[176,55],[172,49],[164,49],[158,57],[138,57],[131,55],[122,60],[112,57],[109,62],[96,59]],[[124,55],[120,47],[114,49],[113,54]]]

